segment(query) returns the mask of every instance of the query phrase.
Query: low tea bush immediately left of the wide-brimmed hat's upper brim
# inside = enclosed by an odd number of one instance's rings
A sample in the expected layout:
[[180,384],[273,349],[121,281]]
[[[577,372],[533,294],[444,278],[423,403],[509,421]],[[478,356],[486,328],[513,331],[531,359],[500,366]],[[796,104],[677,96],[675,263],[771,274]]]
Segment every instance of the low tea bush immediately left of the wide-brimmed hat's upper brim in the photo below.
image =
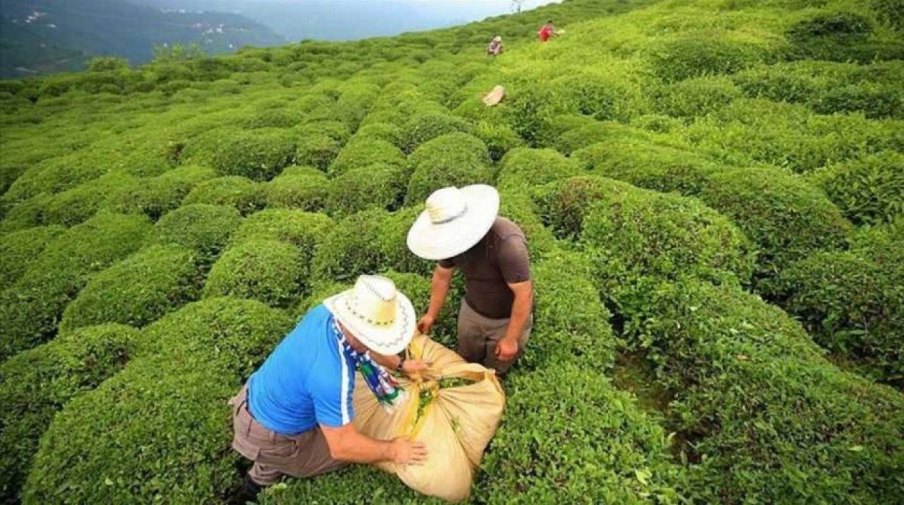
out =
[[330,183],[325,211],[341,217],[370,208],[399,209],[408,175],[407,169],[396,165],[373,164],[353,168]]

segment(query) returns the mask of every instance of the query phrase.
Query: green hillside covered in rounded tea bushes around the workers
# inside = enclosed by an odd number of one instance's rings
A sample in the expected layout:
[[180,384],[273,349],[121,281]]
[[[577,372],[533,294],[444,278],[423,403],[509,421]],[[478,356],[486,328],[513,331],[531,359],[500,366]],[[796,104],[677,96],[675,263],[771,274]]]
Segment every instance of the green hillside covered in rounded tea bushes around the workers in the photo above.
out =
[[[472,501],[901,503],[899,12],[571,0],[0,82],[2,498],[228,500],[226,400],[354,276],[422,310],[410,222],[486,182],[536,306]],[[259,500],[432,501],[364,466]]]

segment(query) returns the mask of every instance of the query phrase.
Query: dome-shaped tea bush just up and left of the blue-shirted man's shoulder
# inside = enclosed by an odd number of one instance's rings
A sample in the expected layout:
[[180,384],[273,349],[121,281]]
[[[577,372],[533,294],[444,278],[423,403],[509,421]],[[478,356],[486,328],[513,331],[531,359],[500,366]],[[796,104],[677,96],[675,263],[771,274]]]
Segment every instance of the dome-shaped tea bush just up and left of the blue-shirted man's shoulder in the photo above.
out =
[[285,307],[304,289],[307,265],[296,247],[251,238],[233,246],[213,264],[204,297],[235,296]]

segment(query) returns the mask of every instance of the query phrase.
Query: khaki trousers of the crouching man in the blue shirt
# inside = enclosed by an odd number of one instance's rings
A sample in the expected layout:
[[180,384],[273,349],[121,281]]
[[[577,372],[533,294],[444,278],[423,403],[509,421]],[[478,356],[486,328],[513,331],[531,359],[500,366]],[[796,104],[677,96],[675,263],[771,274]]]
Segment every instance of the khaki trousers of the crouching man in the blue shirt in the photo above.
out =
[[319,427],[298,435],[280,435],[261,426],[248,409],[248,386],[229,401],[232,406],[232,448],[250,459],[249,475],[260,485],[276,482],[283,474],[312,477],[342,468],[333,458]]

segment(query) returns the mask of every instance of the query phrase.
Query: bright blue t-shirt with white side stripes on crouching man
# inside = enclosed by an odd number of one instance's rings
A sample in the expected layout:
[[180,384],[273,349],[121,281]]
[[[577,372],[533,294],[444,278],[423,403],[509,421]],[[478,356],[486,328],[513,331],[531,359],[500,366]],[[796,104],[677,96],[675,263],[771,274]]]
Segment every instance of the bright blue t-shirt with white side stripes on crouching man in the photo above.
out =
[[251,416],[282,435],[354,417],[354,363],[345,357],[323,304],[305,314],[249,379]]

